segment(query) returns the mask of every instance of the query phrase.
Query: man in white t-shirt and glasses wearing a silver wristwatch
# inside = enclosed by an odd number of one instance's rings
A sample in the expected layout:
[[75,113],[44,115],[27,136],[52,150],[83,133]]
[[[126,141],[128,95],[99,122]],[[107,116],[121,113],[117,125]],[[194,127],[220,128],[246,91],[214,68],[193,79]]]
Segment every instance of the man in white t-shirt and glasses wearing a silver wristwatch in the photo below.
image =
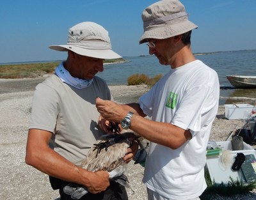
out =
[[99,125],[106,130],[115,121],[151,141],[143,177],[148,199],[199,199],[207,187],[205,150],[218,111],[218,75],[193,56],[191,30],[197,26],[179,1],[154,3],[142,19],[140,43],[147,42],[149,53],[169,65],[170,72],[139,104],[97,98]]

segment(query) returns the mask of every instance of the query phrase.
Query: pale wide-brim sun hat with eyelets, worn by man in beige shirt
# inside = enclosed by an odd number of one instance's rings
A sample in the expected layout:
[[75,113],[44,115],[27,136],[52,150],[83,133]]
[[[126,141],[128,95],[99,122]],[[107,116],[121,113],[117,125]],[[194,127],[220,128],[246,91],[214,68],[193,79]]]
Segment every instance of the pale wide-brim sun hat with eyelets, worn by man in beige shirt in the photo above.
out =
[[68,30],[67,45],[51,45],[50,49],[72,50],[81,56],[100,59],[122,58],[111,47],[108,31],[95,22],[81,22]]

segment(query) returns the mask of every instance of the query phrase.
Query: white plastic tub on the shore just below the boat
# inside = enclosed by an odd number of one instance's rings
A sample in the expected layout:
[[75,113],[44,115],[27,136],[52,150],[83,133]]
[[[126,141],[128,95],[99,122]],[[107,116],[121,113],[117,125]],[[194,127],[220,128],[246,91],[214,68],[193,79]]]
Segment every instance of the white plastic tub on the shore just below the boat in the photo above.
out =
[[[236,106],[237,105],[237,106]],[[253,109],[253,105],[250,104],[224,104],[225,117],[227,119],[245,119],[246,112],[250,114]]]

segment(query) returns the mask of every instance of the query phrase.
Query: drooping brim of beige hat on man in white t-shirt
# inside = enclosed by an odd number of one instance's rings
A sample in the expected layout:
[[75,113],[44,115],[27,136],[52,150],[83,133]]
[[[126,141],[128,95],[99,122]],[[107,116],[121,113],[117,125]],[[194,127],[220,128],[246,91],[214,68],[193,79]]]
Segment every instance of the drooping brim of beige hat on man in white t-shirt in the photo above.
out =
[[180,35],[182,33],[186,33],[191,31],[192,29],[196,29],[196,26],[193,22],[186,20],[179,24],[164,24],[145,27],[144,33],[140,38],[140,44],[148,42],[148,39],[158,39],[163,40],[166,38],[171,38],[173,36]]

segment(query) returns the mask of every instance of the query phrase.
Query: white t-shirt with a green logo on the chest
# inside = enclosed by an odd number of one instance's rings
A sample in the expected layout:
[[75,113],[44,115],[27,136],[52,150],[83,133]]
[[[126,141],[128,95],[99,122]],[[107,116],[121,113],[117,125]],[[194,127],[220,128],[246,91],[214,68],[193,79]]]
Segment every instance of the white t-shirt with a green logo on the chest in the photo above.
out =
[[193,137],[177,150],[150,143],[143,177],[148,188],[170,199],[193,199],[204,192],[205,150],[219,95],[217,73],[196,60],[171,69],[141,96],[140,107],[152,120],[190,130]]

